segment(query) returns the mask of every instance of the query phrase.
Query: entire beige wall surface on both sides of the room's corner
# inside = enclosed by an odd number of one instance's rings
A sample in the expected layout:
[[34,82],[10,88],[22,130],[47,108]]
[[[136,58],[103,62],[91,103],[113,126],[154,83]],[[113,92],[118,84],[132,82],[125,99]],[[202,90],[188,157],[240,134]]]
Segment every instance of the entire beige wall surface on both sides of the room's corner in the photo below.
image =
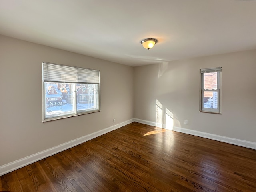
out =
[[[101,112],[42,123],[43,61],[100,70]],[[219,66],[223,114],[200,113],[199,69]],[[166,113],[176,127],[256,142],[255,72],[256,50],[132,68],[0,36],[0,166],[111,127],[113,118],[166,124]]]

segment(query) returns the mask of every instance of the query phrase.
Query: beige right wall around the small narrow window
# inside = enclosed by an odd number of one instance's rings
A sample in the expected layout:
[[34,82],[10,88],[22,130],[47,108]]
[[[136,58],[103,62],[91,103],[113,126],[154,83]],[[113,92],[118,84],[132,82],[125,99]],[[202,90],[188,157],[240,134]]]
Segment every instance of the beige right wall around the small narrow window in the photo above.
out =
[[[199,112],[199,70],[213,67],[222,67],[222,115]],[[166,124],[168,110],[176,127],[256,142],[256,50],[134,68],[134,118]]]

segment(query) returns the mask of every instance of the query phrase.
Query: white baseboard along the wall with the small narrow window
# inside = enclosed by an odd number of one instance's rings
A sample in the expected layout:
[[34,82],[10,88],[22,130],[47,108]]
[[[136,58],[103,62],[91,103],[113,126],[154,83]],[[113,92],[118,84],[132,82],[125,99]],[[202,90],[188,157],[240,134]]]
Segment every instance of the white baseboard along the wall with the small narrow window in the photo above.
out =
[[206,132],[185,129],[185,128],[181,128],[181,127],[175,127],[175,126],[173,128],[170,128],[170,127],[166,127],[165,124],[158,124],[156,122],[146,121],[146,120],[137,119],[137,118],[134,118],[134,121],[138,122],[138,123],[146,124],[146,125],[156,126],[156,127],[160,127],[160,128],[166,128],[166,129],[173,130],[176,132],[186,133],[186,134],[190,134],[190,135],[194,135],[194,136],[199,136],[199,137],[203,137],[203,138],[207,138],[207,139],[221,141],[221,142],[225,142],[225,143],[238,145],[238,146],[256,150],[256,142],[240,140],[240,139],[236,139],[236,138],[230,138],[230,137],[210,134],[210,133],[206,133]]

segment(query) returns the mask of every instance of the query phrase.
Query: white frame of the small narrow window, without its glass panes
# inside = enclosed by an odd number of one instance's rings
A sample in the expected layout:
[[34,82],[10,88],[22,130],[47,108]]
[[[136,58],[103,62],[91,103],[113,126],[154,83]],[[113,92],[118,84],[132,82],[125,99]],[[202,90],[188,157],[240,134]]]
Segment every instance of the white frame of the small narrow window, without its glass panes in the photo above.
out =
[[[204,74],[206,73],[213,73],[217,72],[217,89],[204,89]],[[222,68],[207,68],[207,69],[200,69],[200,112],[207,112],[207,113],[214,113],[214,114],[221,114],[221,75]],[[218,99],[217,99],[217,108],[205,108],[204,107],[204,92],[212,91],[217,92]]]

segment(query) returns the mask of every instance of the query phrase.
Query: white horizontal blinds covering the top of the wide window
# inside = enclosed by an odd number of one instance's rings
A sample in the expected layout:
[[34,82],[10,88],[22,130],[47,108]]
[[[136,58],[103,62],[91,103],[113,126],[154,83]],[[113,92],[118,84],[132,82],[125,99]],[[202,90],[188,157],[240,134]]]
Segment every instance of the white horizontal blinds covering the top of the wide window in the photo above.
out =
[[43,62],[44,82],[100,84],[100,71]]

